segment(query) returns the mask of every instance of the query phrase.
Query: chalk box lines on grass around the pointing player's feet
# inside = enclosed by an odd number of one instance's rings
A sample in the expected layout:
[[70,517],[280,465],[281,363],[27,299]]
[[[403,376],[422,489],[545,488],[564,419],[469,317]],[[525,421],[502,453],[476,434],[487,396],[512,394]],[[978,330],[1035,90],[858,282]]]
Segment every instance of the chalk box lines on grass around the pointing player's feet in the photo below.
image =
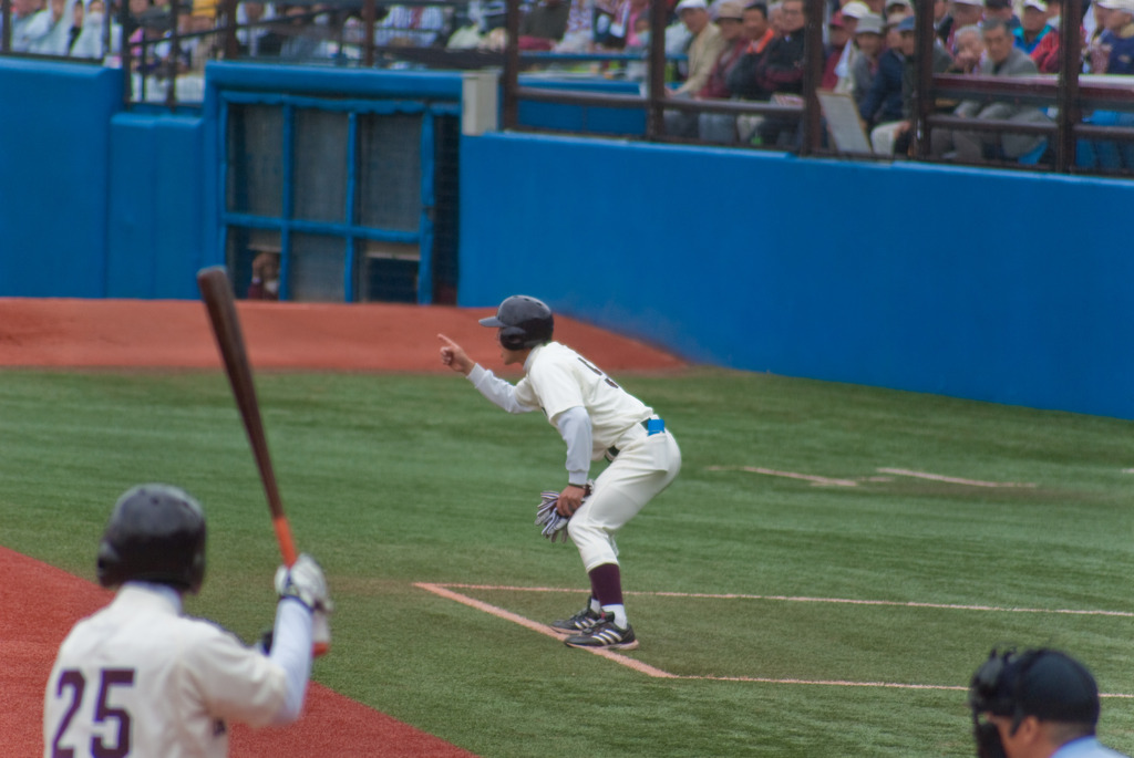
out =
[[[538,621],[533,621],[526,616],[522,616],[511,611],[506,611],[497,605],[485,603],[483,601],[477,601],[474,597],[463,595],[460,593],[454,591],[452,587],[458,587],[460,589],[477,589],[477,590],[494,590],[494,591],[526,591],[526,593],[575,593],[578,594],[577,589],[565,589],[557,587],[510,587],[507,585],[468,585],[468,584],[432,584],[432,582],[414,582],[414,587],[424,589],[429,593],[433,593],[440,597],[455,601],[468,607],[481,611],[482,613],[488,613],[490,615],[497,616],[498,619],[503,619],[505,621],[510,621],[515,624],[528,629],[531,631],[539,632],[545,637],[551,637],[556,640],[560,639],[559,634],[551,631],[547,624],[542,624]],[[744,598],[744,599],[771,599],[771,601],[792,601],[792,602],[813,602],[813,603],[855,603],[864,605],[899,605],[899,606],[913,606],[913,607],[940,607],[950,610],[965,610],[965,611],[1019,611],[1019,608],[995,608],[992,606],[966,606],[966,605],[939,605],[939,604],[911,604],[911,603],[895,603],[890,601],[843,601],[838,598],[799,598],[799,597],[787,597],[787,596],[768,596],[768,595],[710,595],[710,594],[697,594],[697,593],[626,593],[627,595],[653,595],[661,597],[693,597],[693,598]],[[1032,611],[1031,613],[1076,613],[1076,614],[1099,614],[1099,615],[1134,615],[1134,613],[1124,613],[1120,611],[1101,611],[1101,612],[1083,612],[1083,611]],[[585,649],[585,648],[576,648]],[[713,681],[713,682],[752,682],[761,684],[810,684],[813,687],[860,687],[860,688],[880,688],[880,689],[900,689],[900,690],[967,690],[966,687],[959,687],[956,684],[911,684],[904,682],[852,682],[844,680],[809,680],[809,679],[775,679],[770,676],[710,676],[706,674],[674,674],[668,671],[662,671],[655,666],[651,666],[646,663],[642,663],[635,658],[615,653],[613,650],[603,649],[587,649],[587,653],[593,653],[600,657],[612,661],[619,665],[626,666],[643,673],[646,676],[653,679],[679,679],[687,681]],[[1134,695],[1125,693],[1100,693],[1099,697],[1103,698],[1127,698],[1134,699]]]

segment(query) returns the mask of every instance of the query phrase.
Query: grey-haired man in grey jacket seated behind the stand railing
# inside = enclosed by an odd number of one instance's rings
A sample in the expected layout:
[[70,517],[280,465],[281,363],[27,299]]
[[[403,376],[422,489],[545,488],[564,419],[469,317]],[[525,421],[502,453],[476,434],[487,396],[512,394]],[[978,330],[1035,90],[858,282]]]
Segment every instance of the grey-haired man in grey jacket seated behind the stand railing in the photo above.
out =
[[[983,76],[1032,76],[1035,62],[1013,44],[1014,37],[1007,22],[999,18],[985,19],[981,25],[988,58],[980,68]],[[1008,120],[1021,124],[1049,121],[1034,105],[1021,105],[1010,100],[966,100],[957,105],[955,116],[972,119]],[[956,157],[966,163],[987,159],[1015,160],[1032,152],[1043,142],[1042,135],[1022,135],[996,131],[967,131],[964,129],[934,129],[931,135],[931,152],[938,157]]]

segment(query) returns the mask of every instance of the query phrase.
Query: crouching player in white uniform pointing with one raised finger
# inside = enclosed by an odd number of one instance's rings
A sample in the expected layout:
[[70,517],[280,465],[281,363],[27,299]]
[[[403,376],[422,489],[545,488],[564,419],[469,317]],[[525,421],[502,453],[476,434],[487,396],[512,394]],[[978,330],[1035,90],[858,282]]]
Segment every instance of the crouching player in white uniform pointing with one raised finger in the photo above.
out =
[[[441,361],[509,412],[542,410],[567,443],[567,486],[556,510],[570,519],[567,533],[590,577],[591,598],[551,629],[572,647],[633,650],[638,641],[626,618],[615,535],[674,480],[682,451],[653,409],[551,340],[551,309],[540,300],[509,297],[481,324],[497,329],[503,365],[523,365],[519,382],[494,376],[443,334]],[[584,500],[591,462],[603,457],[611,463]]]

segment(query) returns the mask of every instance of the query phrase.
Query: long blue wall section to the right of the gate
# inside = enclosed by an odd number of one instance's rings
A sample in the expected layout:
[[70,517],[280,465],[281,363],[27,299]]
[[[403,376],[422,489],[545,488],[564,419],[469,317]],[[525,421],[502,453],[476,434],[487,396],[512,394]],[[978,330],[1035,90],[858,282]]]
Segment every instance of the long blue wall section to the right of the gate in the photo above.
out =
[[459,303],[694,361],[1134,418],[1134,182],[490,134]]

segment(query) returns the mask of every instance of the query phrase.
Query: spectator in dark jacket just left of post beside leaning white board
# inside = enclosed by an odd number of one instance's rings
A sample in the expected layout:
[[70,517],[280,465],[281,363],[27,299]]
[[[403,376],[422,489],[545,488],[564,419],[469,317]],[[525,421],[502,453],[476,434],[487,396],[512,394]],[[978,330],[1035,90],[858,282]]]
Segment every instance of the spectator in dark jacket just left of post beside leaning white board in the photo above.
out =
[[[772,97],[798,96],[803,93],[803,73],[807,61],[804,46],[804,27],[807,22],[804,2],[784,0],[782,6],[780,36],[768,45],[768,52],[756,70],[756,80],[765,92],[772,93]],[[762,145],[789,147],[798,144],[799,128],[797,118],[771,116],[760,124],[758,134]]]

